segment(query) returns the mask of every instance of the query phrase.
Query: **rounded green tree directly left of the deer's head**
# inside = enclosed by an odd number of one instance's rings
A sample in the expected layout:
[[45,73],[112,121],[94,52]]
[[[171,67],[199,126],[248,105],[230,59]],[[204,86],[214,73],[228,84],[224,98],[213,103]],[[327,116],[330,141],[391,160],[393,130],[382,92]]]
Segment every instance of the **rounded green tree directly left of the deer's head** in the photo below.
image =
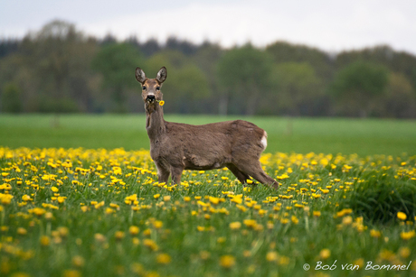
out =
[[114,111],[126,111],[128,88],[137,87],[134,71],[142,63],[140,52],[128,43],[104,46],[92,60],[92,69],[102,75],[103,88],[117,105]]

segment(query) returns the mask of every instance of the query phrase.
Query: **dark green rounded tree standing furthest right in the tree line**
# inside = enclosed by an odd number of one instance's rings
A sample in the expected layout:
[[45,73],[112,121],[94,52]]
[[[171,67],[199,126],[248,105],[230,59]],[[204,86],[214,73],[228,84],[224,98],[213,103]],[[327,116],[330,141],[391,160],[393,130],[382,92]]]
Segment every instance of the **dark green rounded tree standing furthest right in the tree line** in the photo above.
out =
[[376,99],[385,92],[388,70],[370,62],[355,61],[337,72],[331,86],[346,115],[370,115]]

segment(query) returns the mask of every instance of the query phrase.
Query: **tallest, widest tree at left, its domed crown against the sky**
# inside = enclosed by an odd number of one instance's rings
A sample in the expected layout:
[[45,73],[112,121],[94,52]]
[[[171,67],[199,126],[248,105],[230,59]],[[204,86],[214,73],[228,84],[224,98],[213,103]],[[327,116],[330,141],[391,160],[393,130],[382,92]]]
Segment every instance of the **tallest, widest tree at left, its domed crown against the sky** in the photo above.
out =
[[47,23],[25,35],[18,50],[2,59],[0,82],[19,85],[26,112],[88,111],[90,59],[96,49],[97,43],[73,24]]

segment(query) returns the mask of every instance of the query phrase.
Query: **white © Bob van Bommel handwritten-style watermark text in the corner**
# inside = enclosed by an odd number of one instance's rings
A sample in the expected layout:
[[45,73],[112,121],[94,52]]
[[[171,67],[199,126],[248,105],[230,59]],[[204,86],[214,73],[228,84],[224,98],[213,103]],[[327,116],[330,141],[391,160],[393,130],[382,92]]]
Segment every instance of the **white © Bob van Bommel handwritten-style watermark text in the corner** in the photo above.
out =
[[[359,264],[354,264],[354,263],[341,263],[339,265],[337,263],[338,263],[337,260],[332,264],[331,263],[324,264],[321,261],[318,261],[316,266],[314,267],[314,270],[335,271],[336,269],[338,269],[338,270],[343,270],[343,271],[356,271],[356,270],[364,269],[365,271],[407,271],[409,270],[411,266],[411,261],[409,262],[409,264],[388,264],[388,263],[377,264],[377,263],[373,263],[372,261],[368,261],[365,263],[365,265],[361,265],[361,266]],[[303,269],[305,271],[308,271],[311,269],[311,266],[309,265],[309,263],[305,263],[303,265]]]

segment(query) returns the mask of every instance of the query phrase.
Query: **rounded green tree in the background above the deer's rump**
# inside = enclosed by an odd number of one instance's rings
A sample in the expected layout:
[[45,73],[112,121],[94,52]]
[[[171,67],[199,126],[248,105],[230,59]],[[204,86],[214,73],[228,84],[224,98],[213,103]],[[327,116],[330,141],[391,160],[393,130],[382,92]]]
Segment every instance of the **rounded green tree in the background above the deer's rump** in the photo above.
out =
[[265,96],[270,87],[271,68],[269,55],[251,44],[226,51],[217,66],[217,76],[222,86],[222,97],[219,98],[222,114],[228,113],[230,101],[233,111],[254,115],[260,98]]

